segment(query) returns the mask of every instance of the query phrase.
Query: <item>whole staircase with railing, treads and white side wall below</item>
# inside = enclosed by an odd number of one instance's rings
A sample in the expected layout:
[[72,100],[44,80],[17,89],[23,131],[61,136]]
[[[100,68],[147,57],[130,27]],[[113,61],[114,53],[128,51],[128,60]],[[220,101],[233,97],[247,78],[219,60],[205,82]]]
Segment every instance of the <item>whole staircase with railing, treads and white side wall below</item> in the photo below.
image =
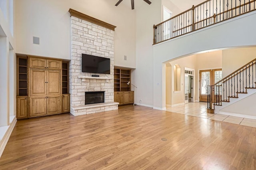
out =
[[208,89],[208,109],[226,115],[256,119],[256,59],[237,69]]

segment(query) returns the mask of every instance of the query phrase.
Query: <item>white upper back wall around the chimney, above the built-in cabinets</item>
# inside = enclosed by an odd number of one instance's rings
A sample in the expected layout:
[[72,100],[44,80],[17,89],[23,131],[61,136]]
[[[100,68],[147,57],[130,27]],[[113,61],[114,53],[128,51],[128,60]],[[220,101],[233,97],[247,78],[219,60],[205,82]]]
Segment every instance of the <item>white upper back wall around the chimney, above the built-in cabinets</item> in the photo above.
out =
[[[116,0],[16,0],[16,52],[70,59],[72,8],[116,26],[115,65],[135,68],[135,10],[115,4]],[[33,36],[40,38],[40,45],[32,43]]]

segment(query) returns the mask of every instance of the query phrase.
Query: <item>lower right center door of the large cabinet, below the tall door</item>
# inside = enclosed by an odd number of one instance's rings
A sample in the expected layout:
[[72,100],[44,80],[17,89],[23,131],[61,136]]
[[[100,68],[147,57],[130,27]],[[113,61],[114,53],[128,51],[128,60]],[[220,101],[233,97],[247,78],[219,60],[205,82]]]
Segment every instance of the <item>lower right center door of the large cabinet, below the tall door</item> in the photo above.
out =
[[61,96],[47,97],[47,114],[61,113]]

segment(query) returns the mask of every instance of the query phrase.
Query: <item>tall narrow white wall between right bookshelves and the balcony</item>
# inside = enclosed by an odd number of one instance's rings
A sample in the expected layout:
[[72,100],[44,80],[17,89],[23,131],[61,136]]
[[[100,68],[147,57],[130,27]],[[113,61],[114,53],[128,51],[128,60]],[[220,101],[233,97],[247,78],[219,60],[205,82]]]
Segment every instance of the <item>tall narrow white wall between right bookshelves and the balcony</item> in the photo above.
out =
[[136,11],[136,70],[132,72],[135,103],[153,105],[153,25],[161,22],[161,2],[144,3]]

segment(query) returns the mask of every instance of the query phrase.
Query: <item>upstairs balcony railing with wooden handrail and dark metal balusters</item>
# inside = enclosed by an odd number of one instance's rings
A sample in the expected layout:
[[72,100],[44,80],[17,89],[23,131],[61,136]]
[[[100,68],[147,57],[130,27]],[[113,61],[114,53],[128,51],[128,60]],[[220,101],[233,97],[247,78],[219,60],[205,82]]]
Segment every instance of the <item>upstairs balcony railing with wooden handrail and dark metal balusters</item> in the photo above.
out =
[[256,0],[207,0],[154,25],[153,44],[256,10]]

